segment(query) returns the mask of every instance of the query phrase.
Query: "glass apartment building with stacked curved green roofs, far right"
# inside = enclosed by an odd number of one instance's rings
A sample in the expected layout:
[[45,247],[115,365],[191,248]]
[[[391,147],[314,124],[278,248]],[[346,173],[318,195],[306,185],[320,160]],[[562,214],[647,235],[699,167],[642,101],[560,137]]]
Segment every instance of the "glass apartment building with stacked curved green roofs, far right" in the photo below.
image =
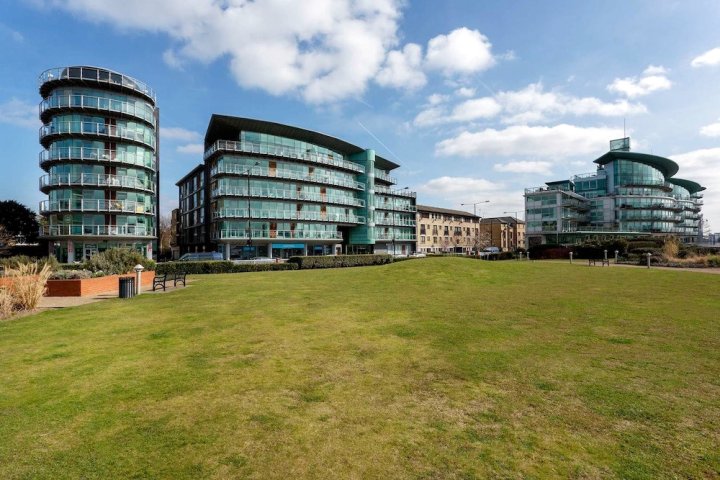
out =
[[590,239],[700,234],[699,183],[676,178],[674,161],[630,151],[630,139],[610,142],[596,171],[525,190],[527,242],[572,244]]

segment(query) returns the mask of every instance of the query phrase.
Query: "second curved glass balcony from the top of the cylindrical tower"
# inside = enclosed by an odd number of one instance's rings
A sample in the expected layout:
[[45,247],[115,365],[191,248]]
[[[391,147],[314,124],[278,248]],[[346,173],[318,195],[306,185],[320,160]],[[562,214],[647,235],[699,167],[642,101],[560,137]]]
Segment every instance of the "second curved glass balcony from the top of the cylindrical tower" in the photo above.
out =
[[99,112],[113,112],[138,118],[155,127],[155,109],[149,104],[138,107],[135,103],[122,102],[111,98],[92,95],[51,95],[40,102],[40,118],[50,120],[49,113],[57,109],[79,109]]

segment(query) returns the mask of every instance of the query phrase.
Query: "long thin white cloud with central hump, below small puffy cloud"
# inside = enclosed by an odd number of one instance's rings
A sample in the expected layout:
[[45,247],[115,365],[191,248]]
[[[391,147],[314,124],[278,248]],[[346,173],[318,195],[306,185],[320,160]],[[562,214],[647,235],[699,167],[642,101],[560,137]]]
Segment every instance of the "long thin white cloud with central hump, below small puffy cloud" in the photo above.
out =
[[465,100],[454,108],[431,103],[414,119],[417,126],[467,122],[492,118],[502,113],[504,123],[528,124],[567,115],[618,117],[647,112],[644,105],[627,100],[604,102],[595,97],[574,97],[560,92],[544,91],[542,83],[532,83],[521,90],[500,92],[495,97]]

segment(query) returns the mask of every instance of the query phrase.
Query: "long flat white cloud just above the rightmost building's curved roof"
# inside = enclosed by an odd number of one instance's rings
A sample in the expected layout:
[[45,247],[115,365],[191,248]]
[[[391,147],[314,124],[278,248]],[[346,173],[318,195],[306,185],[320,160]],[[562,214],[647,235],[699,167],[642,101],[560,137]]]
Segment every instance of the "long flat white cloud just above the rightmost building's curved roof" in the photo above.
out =
[[620,135],[619,130],[605,127],[518,125],[503,130],[488,128],[479,132],[464,131],[437,143],[435,151],[444,156],[499,155],[560,159],[603,152],[607,149],[608,140]]

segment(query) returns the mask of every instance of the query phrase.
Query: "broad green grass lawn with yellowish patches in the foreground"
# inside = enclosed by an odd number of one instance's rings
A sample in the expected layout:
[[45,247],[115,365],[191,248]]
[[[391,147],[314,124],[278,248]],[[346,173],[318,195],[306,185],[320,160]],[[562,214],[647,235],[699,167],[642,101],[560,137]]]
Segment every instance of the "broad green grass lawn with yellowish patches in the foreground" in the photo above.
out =
[[427,258],[0,323],[0,478],[717,478],[719,287]]

